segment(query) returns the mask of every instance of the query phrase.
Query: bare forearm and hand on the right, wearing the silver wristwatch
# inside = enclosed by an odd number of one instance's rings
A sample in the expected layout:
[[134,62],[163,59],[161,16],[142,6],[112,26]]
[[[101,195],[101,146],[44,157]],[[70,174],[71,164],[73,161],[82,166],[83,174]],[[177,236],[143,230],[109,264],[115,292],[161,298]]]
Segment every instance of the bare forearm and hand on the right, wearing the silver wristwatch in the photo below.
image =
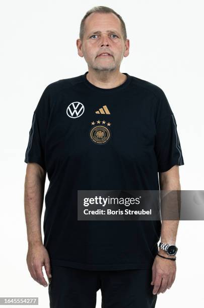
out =
[[[175,165],[166,172],[159,173],[159,182],[161,190],[180,190],[179,166]],[[175,245],[179,220],[162,220],[161,242]],[[159,249],[159,254],[168,256],[163,249]],[[152,266],[152,282],[154,284],[153,294],[164,293],[170,289],[176,276],[176,261],[164,259],[156,256]]]

